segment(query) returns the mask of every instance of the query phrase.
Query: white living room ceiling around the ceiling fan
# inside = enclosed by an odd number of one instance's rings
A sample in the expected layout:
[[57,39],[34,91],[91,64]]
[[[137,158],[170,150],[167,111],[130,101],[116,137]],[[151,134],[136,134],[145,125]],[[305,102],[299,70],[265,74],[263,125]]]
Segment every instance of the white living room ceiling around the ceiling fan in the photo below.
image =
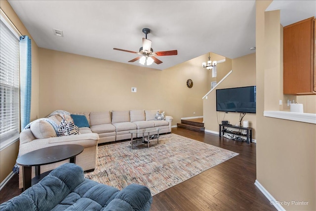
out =
[[150,28],[154,51],[178,50],[150,66],[159,70],[208,52],[234,59],[255,46],[255,0],[8,1],[42,48],[128,63],[138,55],[113,48],[138,51]]

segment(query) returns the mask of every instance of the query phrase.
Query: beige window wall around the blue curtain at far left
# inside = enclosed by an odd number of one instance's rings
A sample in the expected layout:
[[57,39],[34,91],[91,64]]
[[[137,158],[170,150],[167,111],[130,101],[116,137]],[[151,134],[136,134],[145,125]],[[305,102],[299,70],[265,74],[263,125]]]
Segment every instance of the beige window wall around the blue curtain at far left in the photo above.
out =
[[[31,121],[39,116],[39,47],[34,42],[23,23],[20,21],[11,5],[6,0],[0,0],[0,7],[14,26],[22,33],[28,35],[32,42],[32,99],[31,99]],[[2,182],[12,171],[17,159],[19,141],[0,151],[0,181]]]

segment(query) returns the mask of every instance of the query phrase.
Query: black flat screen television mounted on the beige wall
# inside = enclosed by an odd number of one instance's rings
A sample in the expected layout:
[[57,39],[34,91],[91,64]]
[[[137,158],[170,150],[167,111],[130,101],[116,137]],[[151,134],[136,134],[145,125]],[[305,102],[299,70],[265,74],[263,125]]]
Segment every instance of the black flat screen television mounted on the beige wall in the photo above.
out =
[[256,113],[256,86],[216,89],[216,111]]

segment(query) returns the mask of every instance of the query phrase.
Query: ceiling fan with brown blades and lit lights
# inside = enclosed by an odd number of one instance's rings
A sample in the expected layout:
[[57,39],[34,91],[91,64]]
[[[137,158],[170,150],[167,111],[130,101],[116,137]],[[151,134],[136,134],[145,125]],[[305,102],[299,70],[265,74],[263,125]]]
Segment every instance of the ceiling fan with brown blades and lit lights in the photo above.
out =
[[125,51],[129,53],[137,53],[140,56],[128,61],[128,62],[135,62],[139,60],[139,63],[142,65],[151,65],[153,62],[156,64],[161,64],[162,61],[160,61],[158,58],[155,56],[172,56],[172,55],[177,55],[178,51],[177,50],[167,50],[167,51],[158,51],[154,52],[152,46],[152,41],[147,39],[147,34],[150,33],[150,29],[144,28],[143,33],[146,35],[146,38],[143,38],[143,46],[139,48],[139,52],[136,51],[131,51],[131,50],[124,50],[124,49],[119,49],[119,48],[113,48],[114,50],[120,50],[120,51]]

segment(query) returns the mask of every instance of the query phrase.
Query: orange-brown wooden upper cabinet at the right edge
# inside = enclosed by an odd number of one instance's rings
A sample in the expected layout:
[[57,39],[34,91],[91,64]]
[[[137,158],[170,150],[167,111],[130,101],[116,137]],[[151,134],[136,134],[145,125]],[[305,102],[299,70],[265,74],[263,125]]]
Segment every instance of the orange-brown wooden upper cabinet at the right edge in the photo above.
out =
[[308,18],[283,28],[283,93],[316,94],[316,26]]

